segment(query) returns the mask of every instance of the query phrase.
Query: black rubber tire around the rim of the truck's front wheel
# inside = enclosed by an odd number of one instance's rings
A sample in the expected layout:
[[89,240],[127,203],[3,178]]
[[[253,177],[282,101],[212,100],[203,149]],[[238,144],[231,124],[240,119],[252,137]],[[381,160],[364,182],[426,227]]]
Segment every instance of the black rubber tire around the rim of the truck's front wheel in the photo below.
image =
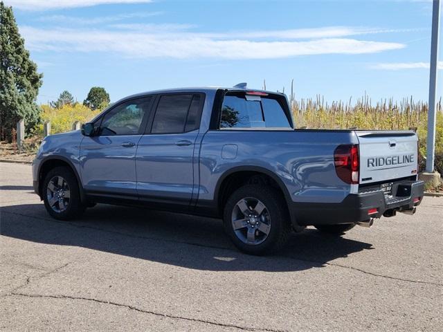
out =
[[[49,203],[50,197],[48,197],[48,185],[55,176],[60,176],[64,179],[67,184],[67,189],[69,189],[69,200],[66,200],[66,205],[64,205],[64,210],[61,210],[60,205],[58,210],[57,205],[55,208],[51,207]],[[68,167],[55,167],[51,169],[51,171],[46,174],[46,178],[44,178],[43,188],[42,188],[42,196],[44,201],[44,206],[49,214],[55,219],[58,220],[71,220],[80,217],[86,206],[82,204],[80,200],[80,190],[78,187],[77,178]]]

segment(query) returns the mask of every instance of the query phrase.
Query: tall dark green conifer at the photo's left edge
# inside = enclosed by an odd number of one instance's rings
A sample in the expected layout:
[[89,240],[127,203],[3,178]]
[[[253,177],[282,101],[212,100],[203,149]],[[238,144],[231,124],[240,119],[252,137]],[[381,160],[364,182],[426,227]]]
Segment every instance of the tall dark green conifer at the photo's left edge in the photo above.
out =
[[35,103],[42,74],[31,61],[19,34],[12,8],[0,1],[0,138],[10,141],[12,129],[23,119],[29,133],[40,120]]

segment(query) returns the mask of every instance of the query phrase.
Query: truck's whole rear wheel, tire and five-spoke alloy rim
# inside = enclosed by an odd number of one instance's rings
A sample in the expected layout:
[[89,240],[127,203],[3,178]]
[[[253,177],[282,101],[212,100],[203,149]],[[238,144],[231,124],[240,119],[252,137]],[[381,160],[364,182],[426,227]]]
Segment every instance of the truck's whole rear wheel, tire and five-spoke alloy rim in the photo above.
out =
[[280,250],[291,232],[282,194],[264,185],[245,185],[229,197],[224,227],[235,246],[250,255]]

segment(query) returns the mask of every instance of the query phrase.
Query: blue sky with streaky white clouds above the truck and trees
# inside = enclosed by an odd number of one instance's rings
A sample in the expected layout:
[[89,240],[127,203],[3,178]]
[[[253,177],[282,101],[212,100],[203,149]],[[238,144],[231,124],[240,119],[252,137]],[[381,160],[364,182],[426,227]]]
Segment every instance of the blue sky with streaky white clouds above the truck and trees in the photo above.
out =
[[[292,79],[298,99],[428,98],[431,1],[4,2],[44,73],[40,103],[65,89],[82,101],[91,86],[111,101],[263,80],[287,93]],[[441,96],[442,69],[439,80]]]

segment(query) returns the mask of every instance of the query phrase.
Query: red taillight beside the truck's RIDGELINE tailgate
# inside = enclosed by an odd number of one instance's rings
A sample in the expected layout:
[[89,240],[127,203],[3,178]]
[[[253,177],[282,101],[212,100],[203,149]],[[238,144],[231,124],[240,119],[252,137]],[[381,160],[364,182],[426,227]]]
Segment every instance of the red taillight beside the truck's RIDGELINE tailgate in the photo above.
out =
[[359,145],[338,145],[334,151],[337,176],[350,185],[359,184]]

